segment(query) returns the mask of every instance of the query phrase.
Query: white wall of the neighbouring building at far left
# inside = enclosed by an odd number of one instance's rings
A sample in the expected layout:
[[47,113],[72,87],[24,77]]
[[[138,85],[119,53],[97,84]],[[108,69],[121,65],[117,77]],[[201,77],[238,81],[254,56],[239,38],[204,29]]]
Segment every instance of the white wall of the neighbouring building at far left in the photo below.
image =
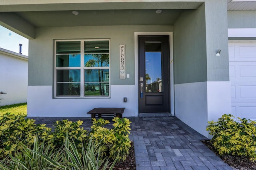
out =
[[0,48],[0,106],[27,101],[28,57]]

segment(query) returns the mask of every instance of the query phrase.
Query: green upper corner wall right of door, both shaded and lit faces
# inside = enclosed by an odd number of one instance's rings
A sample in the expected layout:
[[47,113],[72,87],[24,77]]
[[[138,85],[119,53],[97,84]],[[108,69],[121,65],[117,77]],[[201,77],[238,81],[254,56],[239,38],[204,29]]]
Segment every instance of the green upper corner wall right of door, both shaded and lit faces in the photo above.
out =
[[[174,24],[174,83],[229,81],[226,0],[208,0]],[[216,56],[218,49],[220,56]]]

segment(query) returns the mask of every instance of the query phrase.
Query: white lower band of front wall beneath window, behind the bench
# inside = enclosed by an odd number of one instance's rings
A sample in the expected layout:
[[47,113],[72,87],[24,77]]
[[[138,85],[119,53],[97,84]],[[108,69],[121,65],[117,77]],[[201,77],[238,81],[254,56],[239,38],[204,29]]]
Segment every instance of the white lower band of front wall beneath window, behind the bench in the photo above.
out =
[[[52,86],[28,86],[30,117],[91,117],[94,107],[125,107],[123,117],[138,116],[134,108],[134,85],[111,85],[111,98],[53,99]],[[124,90],[125,89],[125,90]],[[127,102],[123,102],[127,97]]]

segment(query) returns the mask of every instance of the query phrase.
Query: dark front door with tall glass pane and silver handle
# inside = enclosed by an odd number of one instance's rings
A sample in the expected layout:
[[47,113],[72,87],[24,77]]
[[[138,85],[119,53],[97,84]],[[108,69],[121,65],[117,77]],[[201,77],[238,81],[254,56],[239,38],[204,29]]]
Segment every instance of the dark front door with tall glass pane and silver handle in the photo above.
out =
[[170,113],[169,36],[138,36],[139,112]]

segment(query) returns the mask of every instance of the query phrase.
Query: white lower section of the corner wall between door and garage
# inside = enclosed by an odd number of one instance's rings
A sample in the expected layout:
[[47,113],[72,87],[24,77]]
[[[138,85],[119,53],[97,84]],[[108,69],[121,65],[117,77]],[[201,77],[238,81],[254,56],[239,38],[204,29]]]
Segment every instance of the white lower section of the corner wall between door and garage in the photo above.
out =
[[175,116],[208,138],[207,122],[231,113],[229,81],[177,84],[174,91]]

